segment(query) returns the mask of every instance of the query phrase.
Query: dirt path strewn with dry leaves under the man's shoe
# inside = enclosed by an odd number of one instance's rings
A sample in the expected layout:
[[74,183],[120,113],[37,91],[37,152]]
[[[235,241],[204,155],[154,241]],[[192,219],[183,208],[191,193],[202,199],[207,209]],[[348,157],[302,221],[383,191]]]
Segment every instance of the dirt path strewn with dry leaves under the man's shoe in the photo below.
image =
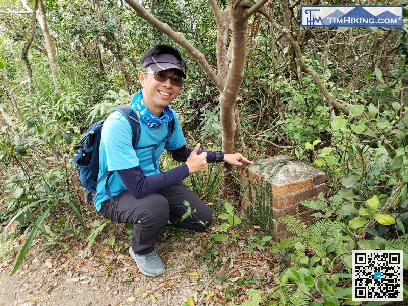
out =
[[[122,224],[110,225],[115,228],[115,236],[117,229],[123,227]],[[108,228],[104,232],[107,233]],[[253,229],[245,234],[251,232]],[[227,279],[249,275],[259,277],[262,282],[273,277],[273,265],[265,261],[261,254],[249,256],[248,252],[243,251],[247,240],[242,233],[236,240],[238,245],[228,246],[228,241],[217,244],[214,253],[208,258],[203,257],[210,243],[208,234],[186,232],[179,237],[162,235],[164,237],[157,244],[157,249],[165,263],[166,273],[154,278],[139,272],[127,252],[130,245],[127,239],[117,239],[115,246],[122,248],[119,252],[114,251],[104,234],[97,237],[89,251],[86,250],[85,239],[64,241],[71,246],[70,249],[54,248],[52,252],[44,252],[40,240],[36,240],[13,276],[9,276],[13,258],[4,259],[0,264],[0,305],[173,306],[183,305],[187,297],[195,299],[195,305],[230,304],[225,301],[223,286],[237,287],[242,292],[247,287],[243,284],[234,286],[234,282],[220,281],[219,277],[202,295],[203,302],[197,303],[203,289],[218,272],[215,264],[217,257],[229,256],[233,259],[220,273]],[[199,267],[200,257],[202,265]],[[241,295],[233,297],[233,300],[240,304],[246,298],[246,295]]]

